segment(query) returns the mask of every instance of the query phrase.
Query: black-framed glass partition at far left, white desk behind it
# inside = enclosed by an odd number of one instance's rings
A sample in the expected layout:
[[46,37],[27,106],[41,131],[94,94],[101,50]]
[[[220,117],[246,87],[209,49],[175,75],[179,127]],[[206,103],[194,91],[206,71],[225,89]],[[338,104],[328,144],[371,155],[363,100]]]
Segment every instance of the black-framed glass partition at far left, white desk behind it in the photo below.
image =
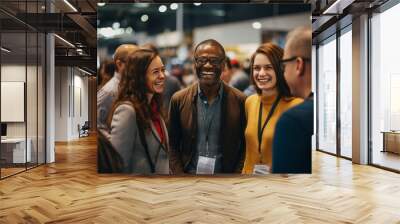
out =
[[[1,179],[45,163],[46,40],[23,22],[42,5],[0,2]],[[8,13],[10,7],[20,11]]]

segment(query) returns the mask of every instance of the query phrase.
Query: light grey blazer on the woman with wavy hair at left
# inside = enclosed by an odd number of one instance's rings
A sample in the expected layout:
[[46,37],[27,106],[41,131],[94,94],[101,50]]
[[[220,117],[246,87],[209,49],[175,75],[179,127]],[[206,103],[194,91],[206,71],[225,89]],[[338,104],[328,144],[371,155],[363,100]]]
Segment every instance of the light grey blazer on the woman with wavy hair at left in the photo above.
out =
[[[169,174],[168,133],[163,119],[161,119],[161,124],[166,135],[166,144],[161,144],[152,122],[151,130],[145,131],[145,138],[150,157],[155,164],[155,173]],[[124,173],[151,174],[146,150],[140,141],[135,109],[129,101],[115,109],[110,130],[103,129],[101,131],[121,155],[124,161]],[[158,157],[157,152],[159,152]]]

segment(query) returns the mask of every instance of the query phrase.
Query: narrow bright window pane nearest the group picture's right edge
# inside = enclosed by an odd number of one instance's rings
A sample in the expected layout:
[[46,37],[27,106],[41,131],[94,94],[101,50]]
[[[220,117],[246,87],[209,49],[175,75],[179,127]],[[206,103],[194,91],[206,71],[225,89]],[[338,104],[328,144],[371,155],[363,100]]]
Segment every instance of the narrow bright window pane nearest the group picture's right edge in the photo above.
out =
[[336,39],[318,48],[318,148],[336,153]]

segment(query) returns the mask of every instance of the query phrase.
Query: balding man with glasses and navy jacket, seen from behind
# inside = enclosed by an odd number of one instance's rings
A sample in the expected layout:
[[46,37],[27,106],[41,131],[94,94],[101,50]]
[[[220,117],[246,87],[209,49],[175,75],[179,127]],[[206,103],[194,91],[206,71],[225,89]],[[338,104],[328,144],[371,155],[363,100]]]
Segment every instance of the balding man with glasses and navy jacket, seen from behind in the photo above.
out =
[[273,173],[311,173],[311,136],[314,99],[311,92],[310,27],[300,27],[287,36],[281,61],[284,76],[293,96],[304,102],[279,119],[272,150]]

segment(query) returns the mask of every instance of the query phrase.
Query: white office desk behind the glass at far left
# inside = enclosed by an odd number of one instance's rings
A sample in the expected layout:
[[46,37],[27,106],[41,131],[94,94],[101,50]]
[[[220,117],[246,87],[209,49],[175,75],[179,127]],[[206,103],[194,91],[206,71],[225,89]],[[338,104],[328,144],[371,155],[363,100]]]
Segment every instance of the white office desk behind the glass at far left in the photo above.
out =
[[[1,139],[1,157],[5,163],[25,163],[31,161],[31,145],[32,141],[27,138],[25,153],[25,138],[6,138]],[[27,158],[27,161],[25,161]]]

